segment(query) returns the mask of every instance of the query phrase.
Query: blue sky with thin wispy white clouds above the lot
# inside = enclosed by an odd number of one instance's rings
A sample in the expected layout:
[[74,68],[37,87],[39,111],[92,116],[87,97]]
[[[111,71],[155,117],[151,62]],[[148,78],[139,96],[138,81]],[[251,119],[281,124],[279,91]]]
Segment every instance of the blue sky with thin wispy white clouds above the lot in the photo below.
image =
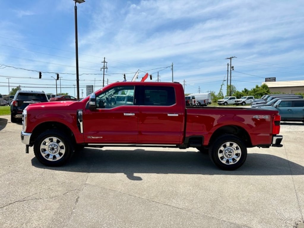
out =
[[[4,1],[0,8],[0,93],[75,92],[74,1]],[[131,81],[185,84],[185,93],[226,93],[228,57],[237,90],[265,78],[304,80],[304,2],[99,1],[77,4],[80,97],[86,85]],[[39,79],[38,72],[42,72]],[[230,76],[230,75],[229,75]],[[54,78],[52,78],[54,77]],[[9,78],[9,79],[8,79]],[[230,79],[229,79],[230,80]],[[150,78],[147,79],[150,81]]]

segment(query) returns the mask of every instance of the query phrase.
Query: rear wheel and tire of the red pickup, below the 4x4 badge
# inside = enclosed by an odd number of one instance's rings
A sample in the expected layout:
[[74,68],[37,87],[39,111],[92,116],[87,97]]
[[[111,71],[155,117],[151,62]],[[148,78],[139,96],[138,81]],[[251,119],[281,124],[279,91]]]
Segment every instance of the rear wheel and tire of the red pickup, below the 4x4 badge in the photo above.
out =
[[211,161],[222,170],[240,168],[247,158],[247,148],[239,137],[224,135],[209,147]]

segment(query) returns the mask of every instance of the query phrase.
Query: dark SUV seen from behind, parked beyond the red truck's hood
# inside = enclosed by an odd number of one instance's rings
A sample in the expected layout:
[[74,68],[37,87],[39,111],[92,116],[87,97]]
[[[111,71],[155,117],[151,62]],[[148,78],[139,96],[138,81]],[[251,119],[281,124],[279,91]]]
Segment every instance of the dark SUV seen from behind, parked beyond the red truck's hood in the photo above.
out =
[[43,91],[19,90],[16,92],[11,106],[11,122],[22,121],[23,109],[29,104],[48,102],[47,95]]

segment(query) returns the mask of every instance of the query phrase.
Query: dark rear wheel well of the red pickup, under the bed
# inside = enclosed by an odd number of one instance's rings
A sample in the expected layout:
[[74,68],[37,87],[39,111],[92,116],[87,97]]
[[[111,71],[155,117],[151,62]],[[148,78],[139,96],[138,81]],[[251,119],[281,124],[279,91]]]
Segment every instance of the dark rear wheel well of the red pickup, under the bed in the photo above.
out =
[[251,139],[248,132],[244,128],[235,125],[223,126],[217,129],[212,134],[208,146],[210,146],[219,136],[223,136],[226,134],[235,135],[243,141],[246,147],[252,147]]

